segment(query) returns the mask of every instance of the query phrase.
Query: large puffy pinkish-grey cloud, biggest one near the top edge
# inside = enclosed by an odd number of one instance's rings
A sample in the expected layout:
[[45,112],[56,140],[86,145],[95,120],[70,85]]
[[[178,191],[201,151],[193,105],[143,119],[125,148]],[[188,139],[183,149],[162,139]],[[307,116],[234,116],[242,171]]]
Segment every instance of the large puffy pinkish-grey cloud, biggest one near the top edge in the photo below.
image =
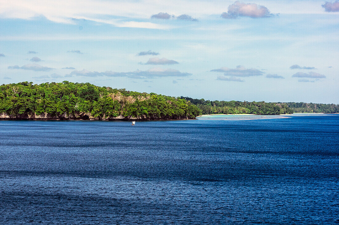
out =
[[238,17],[251,17],[251,18],[263,18],[263,17],[273,17],[274,15],[270,13],[263,5],[257,5],[255,3],[243,3],[236,1],[232,5],[228,6],[228,11],[221,14],[222,18],[225,19],[236,19]]

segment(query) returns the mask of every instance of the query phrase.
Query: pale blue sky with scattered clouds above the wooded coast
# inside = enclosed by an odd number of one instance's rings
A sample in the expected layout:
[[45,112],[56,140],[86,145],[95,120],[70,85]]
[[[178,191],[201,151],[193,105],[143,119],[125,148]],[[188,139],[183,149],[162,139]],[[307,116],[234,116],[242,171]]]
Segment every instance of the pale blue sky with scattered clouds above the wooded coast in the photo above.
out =
[[0,84],[339,104],[339,0],[0,0]]

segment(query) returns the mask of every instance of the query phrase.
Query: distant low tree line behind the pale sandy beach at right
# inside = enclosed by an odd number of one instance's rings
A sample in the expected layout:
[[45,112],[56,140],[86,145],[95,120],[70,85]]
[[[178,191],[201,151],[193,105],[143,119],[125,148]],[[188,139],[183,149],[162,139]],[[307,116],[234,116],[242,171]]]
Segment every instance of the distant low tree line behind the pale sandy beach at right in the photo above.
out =
[[196,105],[202,114],[261,114],[278,115],[290,113],[339,113],[339,105],[314,103],[265,103],[265,102],[239,102],[239,101],[210,101],[205,99],[186,99]]

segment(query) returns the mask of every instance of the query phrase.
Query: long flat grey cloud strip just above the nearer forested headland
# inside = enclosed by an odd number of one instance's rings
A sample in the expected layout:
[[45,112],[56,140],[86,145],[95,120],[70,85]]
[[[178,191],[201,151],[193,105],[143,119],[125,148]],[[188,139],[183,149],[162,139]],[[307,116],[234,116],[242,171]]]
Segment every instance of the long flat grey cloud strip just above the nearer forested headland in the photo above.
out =
[[74,70],[69,76],[87,76],[87,77],[98,77],[98,76],[109,76],[109,77],[129,77],[135,79],[144,79],[144,78],[155,78],[155,77],[166,77],[166,76],[190,76],[192,73],[180,72],[175,69],[162,69],[162,68],[151,68],[145,71],[136,70],[132,72],[114,72],[114,71],[105,71],[105,72],[91,72],[88,70]]

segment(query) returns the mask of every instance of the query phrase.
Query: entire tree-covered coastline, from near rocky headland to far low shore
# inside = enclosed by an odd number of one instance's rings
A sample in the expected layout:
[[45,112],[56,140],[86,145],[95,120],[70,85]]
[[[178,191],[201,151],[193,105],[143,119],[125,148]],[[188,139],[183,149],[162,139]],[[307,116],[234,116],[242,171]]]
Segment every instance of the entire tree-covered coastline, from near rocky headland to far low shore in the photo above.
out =
[[339,105],[210,101],[68,81],[0,86],[0,119],[7,120],[170,120],[194,119],[201,114],[293,112],[338,113]]

